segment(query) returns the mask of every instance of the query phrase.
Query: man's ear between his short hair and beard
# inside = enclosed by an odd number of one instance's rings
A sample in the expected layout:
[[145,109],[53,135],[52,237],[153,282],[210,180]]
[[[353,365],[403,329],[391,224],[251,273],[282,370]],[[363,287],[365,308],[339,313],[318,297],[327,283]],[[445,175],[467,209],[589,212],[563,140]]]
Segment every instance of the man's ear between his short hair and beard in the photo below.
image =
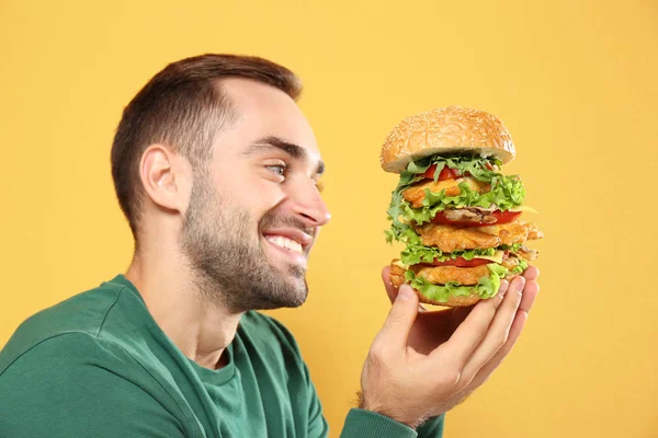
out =
[[148,197],[168,210],[184,212],[191,188],[188,160],[163,145],[151,145],[141,154],[139,177]]

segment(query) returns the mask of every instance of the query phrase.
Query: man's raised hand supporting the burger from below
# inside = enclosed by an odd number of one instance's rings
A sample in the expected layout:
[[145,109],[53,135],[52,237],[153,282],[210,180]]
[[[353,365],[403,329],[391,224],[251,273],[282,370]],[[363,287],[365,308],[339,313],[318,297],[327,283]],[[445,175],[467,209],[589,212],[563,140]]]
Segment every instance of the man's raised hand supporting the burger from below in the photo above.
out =
[[410,427],[447,412],[481,385],[515,344],[540,290],[530,267],[468,309],[424,312],[408,285],[383,279],[393,307],[363,373],[362,407]]

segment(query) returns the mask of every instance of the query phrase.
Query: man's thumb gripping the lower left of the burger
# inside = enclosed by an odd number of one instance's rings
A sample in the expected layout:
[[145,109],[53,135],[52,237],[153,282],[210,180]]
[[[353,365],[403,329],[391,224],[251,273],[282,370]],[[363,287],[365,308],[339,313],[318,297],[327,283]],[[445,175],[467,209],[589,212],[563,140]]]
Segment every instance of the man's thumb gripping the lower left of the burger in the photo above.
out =
[[406,348],[417,314],[418,296],[409,285],[402,285],[374,343]]

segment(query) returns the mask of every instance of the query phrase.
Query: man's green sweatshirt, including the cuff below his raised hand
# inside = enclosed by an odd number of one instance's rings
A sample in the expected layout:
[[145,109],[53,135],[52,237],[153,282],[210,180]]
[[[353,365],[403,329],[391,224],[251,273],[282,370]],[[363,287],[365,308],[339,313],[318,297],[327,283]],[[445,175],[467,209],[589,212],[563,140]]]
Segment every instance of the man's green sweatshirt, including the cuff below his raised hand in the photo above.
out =
[[[326,437],[328,426],[290,332],[247,312],[213,371],[164,335],[120,275],[27,319],[0,351],[0,436]],[[337,376],[337,378],[341,378]],[[419,429],[441,437],[443,417]],[[416,437],[351,410],[341,437]]]

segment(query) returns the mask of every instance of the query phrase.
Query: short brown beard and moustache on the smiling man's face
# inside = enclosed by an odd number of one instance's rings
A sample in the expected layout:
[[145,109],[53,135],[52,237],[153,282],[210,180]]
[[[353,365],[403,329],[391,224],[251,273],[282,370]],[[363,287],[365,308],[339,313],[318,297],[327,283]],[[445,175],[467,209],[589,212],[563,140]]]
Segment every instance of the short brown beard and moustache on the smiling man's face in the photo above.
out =
[[302,306],[308,296],[306,269],[290,264],[286,276],[272,265],[260,237],[262,230],[282,226],[313,232],[290,214],[273,209],[253,235],[251,215],[228,201],[218,205],[217,199],[207,175],[196,175],[180,242],[202,296],[235,312]]

